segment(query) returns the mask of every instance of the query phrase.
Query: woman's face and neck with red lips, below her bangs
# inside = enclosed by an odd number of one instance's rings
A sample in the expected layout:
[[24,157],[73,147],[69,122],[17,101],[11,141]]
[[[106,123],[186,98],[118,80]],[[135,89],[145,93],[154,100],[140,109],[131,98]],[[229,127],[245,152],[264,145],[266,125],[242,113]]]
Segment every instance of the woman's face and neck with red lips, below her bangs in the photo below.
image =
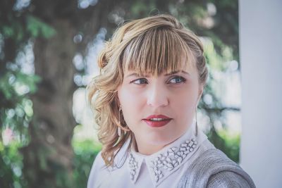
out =
[[118,99],[138,151],[154,153],[184,134],[192,124],[201,94],[194,66],[159,77],[125,72]]

